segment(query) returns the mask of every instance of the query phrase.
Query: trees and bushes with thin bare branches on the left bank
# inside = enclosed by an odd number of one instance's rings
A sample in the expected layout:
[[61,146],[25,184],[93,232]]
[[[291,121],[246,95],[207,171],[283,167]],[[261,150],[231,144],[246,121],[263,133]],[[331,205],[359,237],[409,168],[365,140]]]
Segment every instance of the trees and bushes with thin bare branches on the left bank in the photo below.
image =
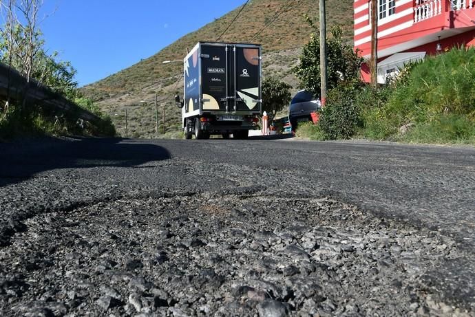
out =
[[[43,34],[39,29],[41,24],[39,12],[42,4],[43,0],[0,0],[0,17],[4,21],[3,25],[0,25],[0,62],[8,65],[10,74],[14,69],[26,78],[24,85],[17,84],[23,87],[14,87],[19,94],[15,96],[17,100],[13,103],[12,111],[9,111],[10,96],[7,96],[3,113],[0,113],[0,130],[3,127],[3,133],[10,130],[36,133],[39,129],[43,131],[57,129],[59,133],[73,131],[73,133],[115,135],[110,118],[102,116],[90,100],[82,98],[74,80],[76,69],[71,63],[59,60],[57,52],[50,54],[45,50]],[[76,114],[73,112],[61,113],[59,109],[34,107],[35,105],[26,107],[29,102],[28,89],[32,87],[33,79],[34,85],[40,83],[49,87],[76,102],[80,107],[93,111],[103,120],[92,126],[87,122],[85,124],[83,120],[76,121]],[[10,83],[9,79],[8,85]],[[8,94],[10,88],[7,89]]]

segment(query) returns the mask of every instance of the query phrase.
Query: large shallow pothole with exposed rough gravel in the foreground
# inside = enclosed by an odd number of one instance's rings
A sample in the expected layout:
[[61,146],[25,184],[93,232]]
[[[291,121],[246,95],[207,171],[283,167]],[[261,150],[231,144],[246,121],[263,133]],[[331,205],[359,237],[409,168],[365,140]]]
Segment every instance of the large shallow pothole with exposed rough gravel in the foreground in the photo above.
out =
[[120,199],[27,225],[0,254],[7,315],[473,310],[426,283],[441,261],[463,255],[454,241],[330,199],[254,190]]

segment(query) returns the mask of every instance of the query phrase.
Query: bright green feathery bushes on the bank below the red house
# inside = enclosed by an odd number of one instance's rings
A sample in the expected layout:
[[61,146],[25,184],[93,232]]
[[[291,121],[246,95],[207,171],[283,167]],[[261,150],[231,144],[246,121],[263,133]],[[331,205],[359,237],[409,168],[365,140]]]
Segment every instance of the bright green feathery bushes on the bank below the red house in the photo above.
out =
[[[361,134],[377,140],[474,142],[475,49],[412,63],[391,83],[357,94]],[[411,126],[401,135],[399,129]],[[472,140],[472,141],[470,141]]]

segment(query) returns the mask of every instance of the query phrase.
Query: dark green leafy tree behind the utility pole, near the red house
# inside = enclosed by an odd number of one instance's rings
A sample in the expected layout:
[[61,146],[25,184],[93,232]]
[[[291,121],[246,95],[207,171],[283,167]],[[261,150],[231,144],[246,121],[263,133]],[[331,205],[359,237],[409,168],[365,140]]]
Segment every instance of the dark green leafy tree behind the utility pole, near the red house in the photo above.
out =
[[[315,28],[313,21],[308,19],[310,26]],[[315,28],[316,29],[316,28]],[[328,89],[337,87],[342,81],[359,78],[359,69],[363,58],[353,50],[352,45],[343,43],[342,30],[335,26],[330,30],[332,35],[327,40],[327,82]],[[293,68],[295,76],[299,79],[299,87],[312,91],[315,96],[320,96],[320,41],[319,36],[312,34],[310,41],[304,46],[300,61]]]

